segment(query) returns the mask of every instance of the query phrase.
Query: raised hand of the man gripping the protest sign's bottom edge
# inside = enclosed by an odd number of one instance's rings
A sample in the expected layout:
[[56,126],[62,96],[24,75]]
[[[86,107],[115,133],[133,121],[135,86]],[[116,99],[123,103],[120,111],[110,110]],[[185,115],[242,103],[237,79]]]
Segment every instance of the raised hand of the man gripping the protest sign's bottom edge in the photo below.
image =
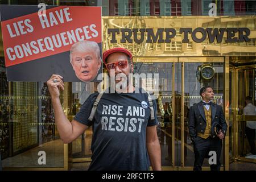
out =
[[52,98],[60,97],[59,89],[64,90],[64,82],[62,79],[63,77],[60,75],[52,75],[46,82]]

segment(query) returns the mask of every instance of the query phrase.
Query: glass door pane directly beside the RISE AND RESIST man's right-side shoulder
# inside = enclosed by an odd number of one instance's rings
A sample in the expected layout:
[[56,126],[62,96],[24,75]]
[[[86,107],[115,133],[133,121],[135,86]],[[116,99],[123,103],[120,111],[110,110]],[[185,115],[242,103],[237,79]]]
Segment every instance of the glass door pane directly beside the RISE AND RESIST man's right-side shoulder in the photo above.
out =
[[[156,100],[158,106],[158,138],[162,152],[162,166],[172,166],[172,63],[137,63],[135,73],[159,74],[159,80],[142,80],[140,86],[145,90],[152,90],[159,82],[159,96]],[[165,115],[165,113],[167,113]],[[165,117],[164,117],[165,115]]]

